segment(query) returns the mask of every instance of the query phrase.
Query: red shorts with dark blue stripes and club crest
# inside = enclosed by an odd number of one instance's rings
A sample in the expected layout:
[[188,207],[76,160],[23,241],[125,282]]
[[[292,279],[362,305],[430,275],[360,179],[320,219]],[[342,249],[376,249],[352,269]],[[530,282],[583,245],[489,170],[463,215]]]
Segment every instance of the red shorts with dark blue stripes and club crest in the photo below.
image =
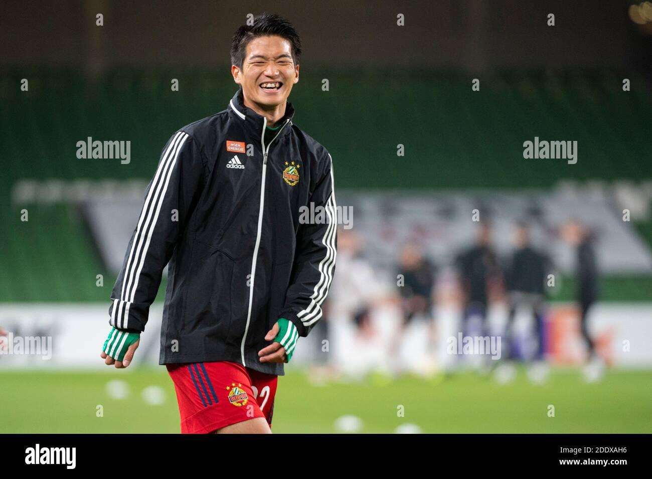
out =
[[211,433],[251,418],[265,418],[271,428],[278,376],[230,361],[166,366],[177,390],[181,433]]

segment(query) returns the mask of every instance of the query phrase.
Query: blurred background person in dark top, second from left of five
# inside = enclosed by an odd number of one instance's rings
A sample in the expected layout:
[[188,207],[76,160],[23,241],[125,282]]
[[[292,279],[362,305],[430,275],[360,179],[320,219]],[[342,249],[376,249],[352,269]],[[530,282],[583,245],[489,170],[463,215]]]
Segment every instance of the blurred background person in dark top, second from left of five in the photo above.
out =
[[430,358],[430,351],[435,343],[432,315],[435,272],[435,266],[424,257],[419,244],[408,242],[403,246],[397,268],[402,321],[398,323],[390,347],[395,373],[407,370],[427,375],[432,372],[434,359]]

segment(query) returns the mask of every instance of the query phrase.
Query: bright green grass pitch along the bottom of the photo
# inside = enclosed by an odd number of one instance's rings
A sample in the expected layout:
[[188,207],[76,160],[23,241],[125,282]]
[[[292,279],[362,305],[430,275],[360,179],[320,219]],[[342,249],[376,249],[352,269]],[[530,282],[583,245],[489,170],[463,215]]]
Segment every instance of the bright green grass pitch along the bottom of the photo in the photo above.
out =
[[[127,383],[126,399],[106,385]],[[164,401],[142,391],[160,386]],[[104,416],[96,416],[102,405]],[[404,407],[404,417],[397,415]],[[554,417],[548,417],[548,406]],[[362,421],[361,432],[391,433],[415,424],[424,433],[651,433],[652,371],[608,371],[585,384],[578,370],[553,370],[544,385],[497,385],[475,373],[424,380],[312,385],[301,371],[279,379],[274,433],[333,433],[336,418]],[[0,424],[6,433],[179,433],[174,388],[164,368],[104,372],[0,371]]]

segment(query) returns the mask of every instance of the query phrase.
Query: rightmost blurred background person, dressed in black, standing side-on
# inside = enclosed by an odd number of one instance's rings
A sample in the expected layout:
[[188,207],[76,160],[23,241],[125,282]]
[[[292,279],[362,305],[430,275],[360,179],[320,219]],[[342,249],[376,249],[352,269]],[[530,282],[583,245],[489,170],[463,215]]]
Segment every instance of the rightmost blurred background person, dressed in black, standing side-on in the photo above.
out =
[[578,220],[571,220],[563,225],[561,235],[576,250],[576,298],[580,309],[580,332],[588,353],[584,378],[588,382],[594,382],[604,373],[604,362],[597,355],[595,341],[591,338],[588,328],[589,312],[600,297],[600,276],[593,247],[595,235]]

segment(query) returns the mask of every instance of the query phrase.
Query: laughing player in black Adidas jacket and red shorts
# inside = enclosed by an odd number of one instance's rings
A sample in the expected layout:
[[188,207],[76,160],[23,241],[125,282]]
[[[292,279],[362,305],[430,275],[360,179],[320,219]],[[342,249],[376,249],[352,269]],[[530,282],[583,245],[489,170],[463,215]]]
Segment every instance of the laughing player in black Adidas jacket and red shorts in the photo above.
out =
[[[235,32],[228,108],[165,145],[111,295],[101,356],[126,368],[168,265],[160,364],[182,433],[269,433],[278,375],[333,280],[329,152],[292,123],[301,41],[276,15]],[[301,207],[312,205],[312,223]]]

